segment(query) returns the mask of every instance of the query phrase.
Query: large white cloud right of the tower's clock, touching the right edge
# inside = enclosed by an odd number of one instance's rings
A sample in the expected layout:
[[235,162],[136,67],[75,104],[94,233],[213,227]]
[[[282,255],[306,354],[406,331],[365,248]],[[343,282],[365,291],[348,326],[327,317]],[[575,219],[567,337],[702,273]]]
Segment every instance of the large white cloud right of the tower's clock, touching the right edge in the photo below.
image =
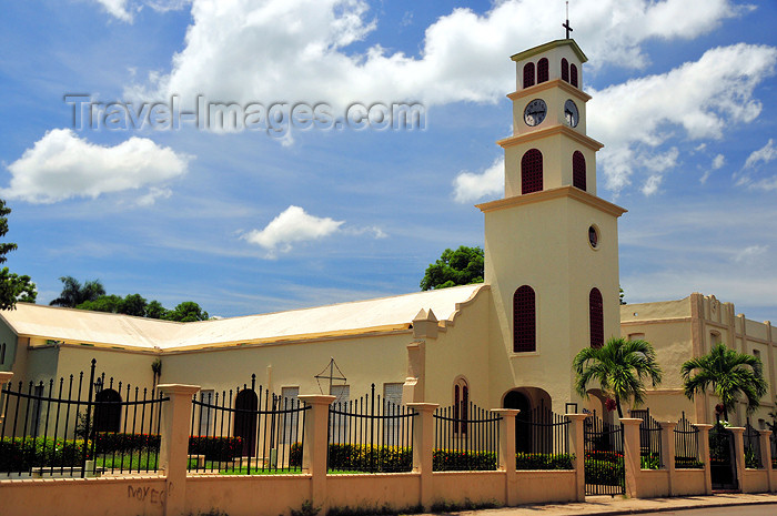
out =
[[677,130],[689,140],[719,139],[729,124],[753,121],[761,110],[754,90],[776,62],[777,49],[740,43],[660,75],[591,91],[588,134],[607,142],[598,156],[606,186],[617,194],[635,171],[657,176],[674,168],[677,156],[667,159],[660,146]]

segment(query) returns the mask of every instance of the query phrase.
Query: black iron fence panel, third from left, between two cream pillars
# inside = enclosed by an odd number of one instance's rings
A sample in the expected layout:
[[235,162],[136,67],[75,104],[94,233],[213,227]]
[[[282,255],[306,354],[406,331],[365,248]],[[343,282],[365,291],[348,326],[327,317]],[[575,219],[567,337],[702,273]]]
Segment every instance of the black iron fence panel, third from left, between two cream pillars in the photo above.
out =
[[395,473],[413,469],[415,411],[371,392],[329,409],[327,469]]

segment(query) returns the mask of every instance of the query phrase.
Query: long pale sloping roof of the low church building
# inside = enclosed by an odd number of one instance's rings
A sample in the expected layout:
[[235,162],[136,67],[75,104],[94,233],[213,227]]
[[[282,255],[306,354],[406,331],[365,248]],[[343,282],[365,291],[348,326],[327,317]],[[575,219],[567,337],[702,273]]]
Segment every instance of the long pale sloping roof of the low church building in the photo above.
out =
[[147,350],[199,348],[407,330],[422,308],[431,308],[440,321],[451,321],[458,304],[483,287],[465,285],[193,323],[28,303],[0,312],[0,318],[18,335],[34,338]]

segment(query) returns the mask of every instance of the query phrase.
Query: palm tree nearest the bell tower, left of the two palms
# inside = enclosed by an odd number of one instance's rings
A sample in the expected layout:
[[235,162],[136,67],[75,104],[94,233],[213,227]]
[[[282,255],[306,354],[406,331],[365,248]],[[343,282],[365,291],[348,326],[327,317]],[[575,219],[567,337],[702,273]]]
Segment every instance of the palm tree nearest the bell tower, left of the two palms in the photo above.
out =
[[573,368],[577,394],[587,398],[588,384],[598,381],[602,391],[615,397],[618,417],[623,417],[622,401],[645,403],[645,380],[655,387],[663,374],[648,342],[623,337],[612,337],[602,347],[584,347],[575,356]]

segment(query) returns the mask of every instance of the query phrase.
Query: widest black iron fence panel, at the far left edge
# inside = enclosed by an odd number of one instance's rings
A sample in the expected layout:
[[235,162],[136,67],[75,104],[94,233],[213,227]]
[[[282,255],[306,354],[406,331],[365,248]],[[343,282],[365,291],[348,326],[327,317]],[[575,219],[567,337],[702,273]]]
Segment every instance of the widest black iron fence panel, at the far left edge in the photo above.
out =
[[0,474],[93,476],[157,472],[161,393],[89,375],[2,386]]

